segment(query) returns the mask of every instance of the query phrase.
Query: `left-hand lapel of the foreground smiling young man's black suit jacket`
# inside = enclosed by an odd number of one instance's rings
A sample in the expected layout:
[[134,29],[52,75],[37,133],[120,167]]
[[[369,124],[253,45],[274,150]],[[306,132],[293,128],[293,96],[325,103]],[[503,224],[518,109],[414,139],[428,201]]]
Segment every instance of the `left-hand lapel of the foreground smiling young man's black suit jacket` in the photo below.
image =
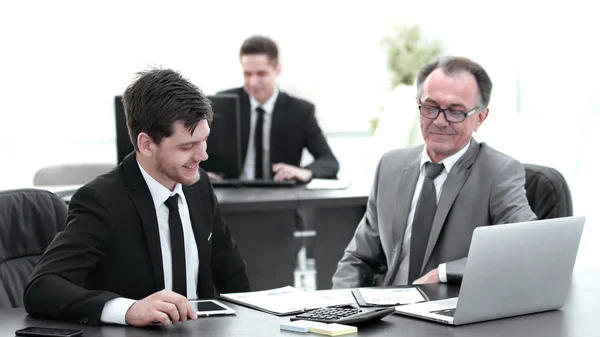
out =
[[152,261],[156,289],[162,290],[165,288],[165,277],[162,265],[162,250],[160,247],[160,236],[158,234],[156,208],[148,185],[146,185],[146,181],[144,180],[135,159],[135,152],[123,159],[123,175],[125,177],[125,183],[132,188],[129,197],[137,210],[142,222],[142,227],[144,228],[144,233],[146,234],[146,242],[148,244],[150,260]]

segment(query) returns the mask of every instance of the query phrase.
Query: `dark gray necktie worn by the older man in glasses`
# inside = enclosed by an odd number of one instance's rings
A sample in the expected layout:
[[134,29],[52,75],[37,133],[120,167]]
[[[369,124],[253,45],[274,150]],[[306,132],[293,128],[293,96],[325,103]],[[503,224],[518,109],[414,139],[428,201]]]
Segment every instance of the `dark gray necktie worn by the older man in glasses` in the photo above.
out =
[[437,198],[433,180],[442,173],[444,164],[425,163],[425,179],[417,202],[417,209],[412,223],[410,239],[410,263],[408,265],[408,284],[419,278],[427,249],[427,241],[437,209]]

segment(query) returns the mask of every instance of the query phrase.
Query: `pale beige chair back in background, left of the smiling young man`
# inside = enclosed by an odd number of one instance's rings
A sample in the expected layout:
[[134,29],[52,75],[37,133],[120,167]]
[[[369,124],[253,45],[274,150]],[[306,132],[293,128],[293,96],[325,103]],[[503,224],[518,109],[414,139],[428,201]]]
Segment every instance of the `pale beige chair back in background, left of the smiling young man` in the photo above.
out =
[[41,168],[33,177],[34,186],[83,185],[109,172],[114,164],[66,164]]

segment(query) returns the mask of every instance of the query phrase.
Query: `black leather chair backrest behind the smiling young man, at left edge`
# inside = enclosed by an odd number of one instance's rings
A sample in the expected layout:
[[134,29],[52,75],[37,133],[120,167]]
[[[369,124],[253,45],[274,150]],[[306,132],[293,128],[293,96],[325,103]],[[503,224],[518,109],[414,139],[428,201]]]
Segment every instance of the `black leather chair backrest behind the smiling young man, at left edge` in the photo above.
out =
[[23,307],[31,272],[67,222],[67,205],[37,189],[0,192],[0,308]]

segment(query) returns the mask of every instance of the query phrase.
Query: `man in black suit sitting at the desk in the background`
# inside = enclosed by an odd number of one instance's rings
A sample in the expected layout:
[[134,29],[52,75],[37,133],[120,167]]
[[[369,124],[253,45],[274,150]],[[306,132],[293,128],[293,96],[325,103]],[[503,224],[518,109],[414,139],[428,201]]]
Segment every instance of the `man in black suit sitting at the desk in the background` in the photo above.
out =
[[[276,87],[281,72],[278,54],[277,45],[267,37],[246,39],[240,48],[244,86],[220,92],[240,98],[244,163],[240,178],[300,182],[335,178],[339,164],[317,123],[315,106]],[[314,162],[302,168],[304,148]]]

